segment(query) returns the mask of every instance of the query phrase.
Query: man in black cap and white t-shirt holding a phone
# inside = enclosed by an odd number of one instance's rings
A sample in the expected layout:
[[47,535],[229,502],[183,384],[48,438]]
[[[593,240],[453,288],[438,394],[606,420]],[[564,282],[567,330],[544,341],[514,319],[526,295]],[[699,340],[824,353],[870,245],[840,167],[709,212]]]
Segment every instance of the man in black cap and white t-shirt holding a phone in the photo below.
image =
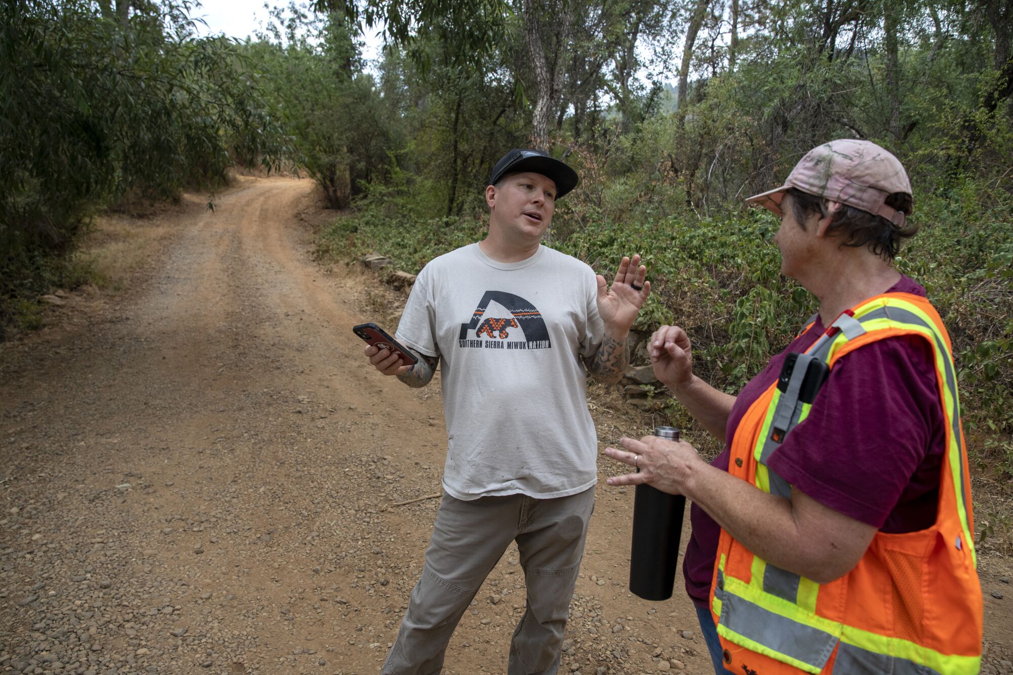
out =
[[608,288],[541,245],[555,201],[577,183],[565,163],[515,149],[489,183],[488,236],[430,261],[411,290],[396,339],[418,363],[366,349],[377,370],[412,387],[443,360],[449,441],[425,566],[384,675],[442,670],[461,615],[514,540],[528,598],[508,672],[558,670],[598,478],[585,368],[602,382],[622,378],[626,335],[650,292],[639,255],[623,257]]

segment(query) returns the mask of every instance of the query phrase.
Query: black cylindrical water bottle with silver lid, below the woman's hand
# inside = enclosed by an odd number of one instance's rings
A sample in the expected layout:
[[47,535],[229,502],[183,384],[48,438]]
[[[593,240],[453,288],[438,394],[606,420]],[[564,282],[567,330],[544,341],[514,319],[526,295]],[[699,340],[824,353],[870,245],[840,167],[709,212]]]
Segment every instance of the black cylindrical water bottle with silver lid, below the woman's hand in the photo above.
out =
[[[654,427],[654,436],[679,440],[675,427]],[[637,485],[633,500],[630,591],[644,600],[668,600],[679,567],[686,498]]]

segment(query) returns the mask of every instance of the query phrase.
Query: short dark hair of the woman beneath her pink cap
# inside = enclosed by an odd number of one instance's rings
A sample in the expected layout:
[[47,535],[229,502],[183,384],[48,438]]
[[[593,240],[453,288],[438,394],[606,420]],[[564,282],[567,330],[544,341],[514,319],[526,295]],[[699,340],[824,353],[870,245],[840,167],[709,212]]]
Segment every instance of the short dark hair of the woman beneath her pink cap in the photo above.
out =
[[[791,212],[802,229],[805,229],[805,221],[810,215],[823,218],[828,213],[827,200],[823,197],[803,193],[797,188],[789,188],[785,195],[791,196]],[[910,195],[893,193],[886,198],[886,206],[911,215],[913,202]],[[918,225],[908,221],[902,229],[882,216],[842,204],[834,214],[828,231],[844,236],[842,246],[867,246],[884,260],[892,260],[901,252],[901,242],[918,232]]]

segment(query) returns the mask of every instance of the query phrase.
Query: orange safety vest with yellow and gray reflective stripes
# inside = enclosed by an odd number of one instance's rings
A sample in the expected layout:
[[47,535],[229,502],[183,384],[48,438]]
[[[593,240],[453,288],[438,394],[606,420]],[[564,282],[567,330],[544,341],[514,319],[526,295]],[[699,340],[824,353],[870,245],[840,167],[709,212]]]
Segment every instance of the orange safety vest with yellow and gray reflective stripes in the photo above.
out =
[[936,522],[918,532],[877,532],[858,565],[829,584],[766,562],[722,529],[710,608],[725,668],[734,673],[980,670],[983,602],[956,371],[946,328],[925,298],[886,293],[842,313],[798,357],[785,391],[775,381],[747,410],[735,429],[728,472],[790,499],[791,486],[766,460],[808,415],[809,404],[799,401],[798,391],[809,360],[833,369],[842,356],[897,335],[925,339],[935,356],[946,424]]

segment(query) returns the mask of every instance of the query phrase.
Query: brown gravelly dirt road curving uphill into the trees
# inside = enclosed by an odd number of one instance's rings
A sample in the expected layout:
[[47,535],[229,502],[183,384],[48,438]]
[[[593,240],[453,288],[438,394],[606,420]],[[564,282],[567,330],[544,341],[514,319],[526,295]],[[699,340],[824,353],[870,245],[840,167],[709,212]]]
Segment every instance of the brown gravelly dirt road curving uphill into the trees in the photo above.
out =
[[[374,279],[310,260],[311,188],[184,201],[136,292],[8,348],[0,671],[379,671],[439,500],[394,505],[440,491],[446,432],[438,385],[364,364],[349,328]],[[596,409],[602,440],[625,419]],[[705,673],[680,590],[626,590],[631,507],[600,485],[561,672]],[[445,672],[504,672],[524,604],[511,550]]]

